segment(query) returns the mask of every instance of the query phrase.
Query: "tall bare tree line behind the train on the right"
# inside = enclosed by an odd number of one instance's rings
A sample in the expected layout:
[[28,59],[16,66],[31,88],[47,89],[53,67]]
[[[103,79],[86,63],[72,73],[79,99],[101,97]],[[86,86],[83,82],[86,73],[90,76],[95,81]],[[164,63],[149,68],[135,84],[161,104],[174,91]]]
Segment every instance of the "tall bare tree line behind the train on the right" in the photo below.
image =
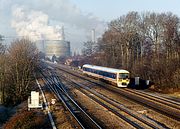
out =
[[93,64],[150,79],[157,88],[180,88],[180,18],[129,12],[112,20],[96,43],[85,42],[83,54]]

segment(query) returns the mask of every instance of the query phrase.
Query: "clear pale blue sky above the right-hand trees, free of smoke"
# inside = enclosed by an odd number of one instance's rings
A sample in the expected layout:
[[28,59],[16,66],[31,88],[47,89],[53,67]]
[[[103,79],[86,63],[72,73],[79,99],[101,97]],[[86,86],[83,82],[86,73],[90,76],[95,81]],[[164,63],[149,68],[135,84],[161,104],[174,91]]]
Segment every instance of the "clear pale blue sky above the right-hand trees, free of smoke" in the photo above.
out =
[[180,16],[180,0],[71,0],[83,12],[110,21],[129,11],[168,12]]

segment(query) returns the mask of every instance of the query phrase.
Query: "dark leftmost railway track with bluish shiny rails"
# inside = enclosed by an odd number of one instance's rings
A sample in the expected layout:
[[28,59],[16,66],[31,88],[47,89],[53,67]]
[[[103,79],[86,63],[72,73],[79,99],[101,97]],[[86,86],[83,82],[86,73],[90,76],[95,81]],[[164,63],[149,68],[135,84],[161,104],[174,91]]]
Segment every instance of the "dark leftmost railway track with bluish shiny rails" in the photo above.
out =
[[45,74],[43,80],[48,88],[57,96],[64,104],[66,109],[72,114],[75,120],[79,123],[82,129],[101,129],[96,123],[66,92],[60,81],[53,76],[48,77]]

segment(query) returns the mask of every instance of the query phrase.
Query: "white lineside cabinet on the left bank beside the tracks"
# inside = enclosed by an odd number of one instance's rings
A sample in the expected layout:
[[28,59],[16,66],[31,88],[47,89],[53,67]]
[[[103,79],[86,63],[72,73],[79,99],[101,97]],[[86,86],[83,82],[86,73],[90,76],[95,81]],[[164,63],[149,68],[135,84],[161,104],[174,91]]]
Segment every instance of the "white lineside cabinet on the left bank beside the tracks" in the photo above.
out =
[[39,101],[39,92],[31,91],[31,96],[28,98],[28,110],[31,108],[42,108],[42,103]]

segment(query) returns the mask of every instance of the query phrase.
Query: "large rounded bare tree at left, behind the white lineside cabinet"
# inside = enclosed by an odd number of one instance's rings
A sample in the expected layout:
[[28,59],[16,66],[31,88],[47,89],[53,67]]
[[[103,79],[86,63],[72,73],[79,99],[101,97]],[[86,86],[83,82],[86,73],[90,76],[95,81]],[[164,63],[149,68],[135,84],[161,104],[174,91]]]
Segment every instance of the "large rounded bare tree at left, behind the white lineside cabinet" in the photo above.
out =
[[8,96],[13,103],[27,96],[34,68],[37,63],[37,49],[28,39],[15,40],[8,49],[9,69],[12,78]]

